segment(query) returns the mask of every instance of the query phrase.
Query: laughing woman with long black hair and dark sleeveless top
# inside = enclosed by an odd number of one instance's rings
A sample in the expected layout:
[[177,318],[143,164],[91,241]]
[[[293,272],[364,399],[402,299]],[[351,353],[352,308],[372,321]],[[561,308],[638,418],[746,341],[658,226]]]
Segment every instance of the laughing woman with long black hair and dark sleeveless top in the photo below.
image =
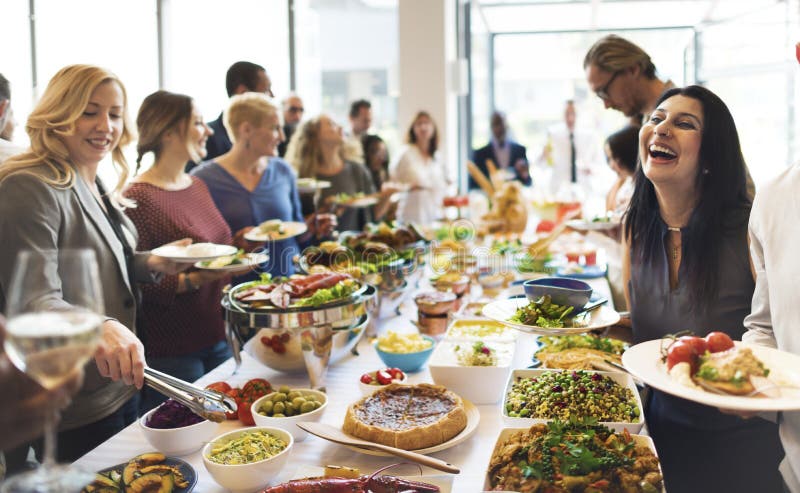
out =
[[[634,342],[691,330],[744,333],[750,313],[751,201],[736,124],[700,86],[665,92],[639,133],[641,166],[623,227]],[[778,492],[777,426],[653,389],[647,427],[666,489]]]

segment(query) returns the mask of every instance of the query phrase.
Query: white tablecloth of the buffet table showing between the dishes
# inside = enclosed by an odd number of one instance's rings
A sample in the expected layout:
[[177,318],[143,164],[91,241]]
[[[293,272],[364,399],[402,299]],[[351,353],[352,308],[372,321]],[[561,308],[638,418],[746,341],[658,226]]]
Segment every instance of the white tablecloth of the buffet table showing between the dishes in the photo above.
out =
[[[596,292],[609,297],[609,286],[605,278],[592,279],[587,282],[592,284]],[[416,318],[416,307],[414,306],[412,294],[413,290],[409,290],[409,294],[404,296],[404,301],[400,305],[399,316],[378,320],[376,328],[379,334],[387,330],[396,332],[416,331],[411,322]],[[534,346],[535,336],[519,334],[513,368],[524,368],[530,365],[530,357]],[[359,377],[365,372],[385,367],[366,337],[361,340],[357,348],[358,356],[348,355],[328,370],[326,387],[329,403],[327,411],[321,419],[324,423],[340,427],[344,420],[347,406],[361,398],[358,386]],[[197,383],[204,386],[211,382],[224,380],[232,386],[241,386],[251,378],[260,377],[269,380],[274,387],[283,384],[292,387],[308,386],[308,376],[305,372],[280,373],[261,365],[247,354],[242,356],[243,364],[235,375],[231,375],[234,370],[234,362],[231,359],[205,375]],[[432,382],[427,367],[417,373],[409,374],[408,377],[409,383]],[[446,482],[452,480],[452,491],[481,491],[495,440],[503,428],[500,406],[500,402],[477,406],[481,418],[475,434],[452,448],[431,454],[459,467],[461,469],[460,474],[448,476],[434,469],[423,468],[423,475],[435,475]],[[218,434],[242,426],[240,421],[227,421],[219,425]],[[100,470],[126,462],[137,454],[152,450],[152,447],[147,443],[139,429],[139,424],[134,423],[83,456],[76,464],[91,470]],[[189,462],[197,472],[198,482],[194,491],[198,493],[225,491],[224,488],[213,481],[206,471],[199,450],[182,457],[182,459]],[[307,469],[308,466],[336,464],[358,467],[362,473],[370,473],[382,466],[397,462],[401,462],[401,460],[396,457],[377,457],[355,452],[349,448],[310,435],[305,441],[295,442],[289,463],[280,475],[272,478],[269,483],[274,485],[292,479],[296,477],[298,471]],[[418,469],[416,466],[405,465],[389,473],[394,475],[414,475],[418,474]],[[442,475],[445,477],[443,478]],[[448,490],[444,489],[444,491]]]

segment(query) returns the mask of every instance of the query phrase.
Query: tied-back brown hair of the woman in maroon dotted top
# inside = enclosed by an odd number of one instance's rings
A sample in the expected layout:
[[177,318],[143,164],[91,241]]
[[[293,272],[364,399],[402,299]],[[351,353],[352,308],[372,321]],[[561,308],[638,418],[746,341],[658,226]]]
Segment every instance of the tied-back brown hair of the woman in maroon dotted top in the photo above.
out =
[[136,117],[136,128],[139,131],[139,141],[136,143],[137,173],[145,154],[152,152],[158,159],[164,135],[170,130],[176,130],[178,135],[184,139],[189,157],[195,162],[200,161],[200,156],[196,155],[194,147],[189,145],[192,109],[192,98],[185,94],[156,91],[144,98]]

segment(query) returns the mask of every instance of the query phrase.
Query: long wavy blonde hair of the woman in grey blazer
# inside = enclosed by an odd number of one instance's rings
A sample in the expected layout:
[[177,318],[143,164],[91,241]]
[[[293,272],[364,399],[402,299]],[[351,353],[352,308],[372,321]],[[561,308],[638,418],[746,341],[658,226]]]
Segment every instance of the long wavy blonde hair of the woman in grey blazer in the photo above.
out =
[[[111,160],[120,177],[109,198],[118,206],[132,205],[133,202],[121,194],[130,172],[122,148],[135,138],[128,115],[128,96],[125,86],[116,75],[92,65],[69,65],[50,79],[44,94],[25,124],[31,146],[27,151],[9,158],[0,166],[0,181],[17,173],[25,173],[55,188],[72,188],[77,174],[62,137],[75,133],[75,124],[89,105],[92,93],[107,82],[117,84],[122,92],[123,101],[122,133],[119,143],[111,151]],[[46,169],[37,169],[41,166]]]

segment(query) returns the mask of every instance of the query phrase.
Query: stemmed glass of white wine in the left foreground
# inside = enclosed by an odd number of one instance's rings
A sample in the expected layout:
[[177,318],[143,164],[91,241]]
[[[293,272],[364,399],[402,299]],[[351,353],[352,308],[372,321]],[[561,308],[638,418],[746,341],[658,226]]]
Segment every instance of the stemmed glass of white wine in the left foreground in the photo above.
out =
[[[78,377],[94,355],[104,317],[102,286],[93,250],[24,250],[6,289],[5,351],[11,362],[45,389]],[[41,467],[8,478],[3,493],[75,492],[94,474],[55,461],[59,411],[44,426]]]

